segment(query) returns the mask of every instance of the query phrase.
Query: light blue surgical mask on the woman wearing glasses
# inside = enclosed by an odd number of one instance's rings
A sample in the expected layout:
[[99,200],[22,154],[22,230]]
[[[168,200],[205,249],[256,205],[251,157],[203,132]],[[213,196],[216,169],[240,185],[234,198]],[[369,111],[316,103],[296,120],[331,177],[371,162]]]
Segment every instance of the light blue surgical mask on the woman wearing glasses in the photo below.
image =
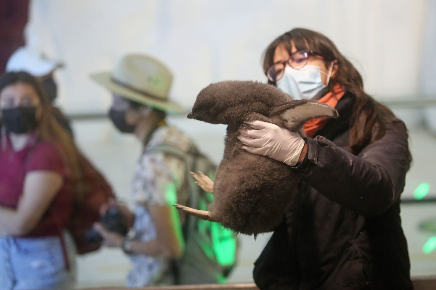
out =
[[[293,100],[310,100],[328,85],[333,64],[332,61],[328,74],[321,71],[320,67],[313,65],[306,65],[298,70],[287,66],[283,77],[277,81],[277,87],[288,93]],[[325,85],[321,80],[321,73],[327,75]]]

